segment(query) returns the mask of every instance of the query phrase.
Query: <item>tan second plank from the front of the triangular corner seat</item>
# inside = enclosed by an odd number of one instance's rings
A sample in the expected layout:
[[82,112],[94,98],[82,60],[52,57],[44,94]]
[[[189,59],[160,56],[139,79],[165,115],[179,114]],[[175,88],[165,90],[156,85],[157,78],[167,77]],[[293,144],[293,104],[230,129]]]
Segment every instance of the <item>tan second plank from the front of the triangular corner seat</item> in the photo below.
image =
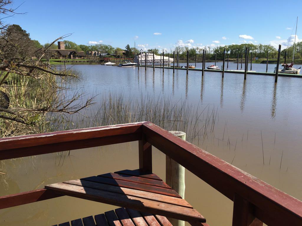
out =
[[184,206],[188,208],[193,207],[185,200],[185,199],[179,199],[176,197],[172,196],[166,196],[166,195],[161,195],[161,194],[156,194],[156,193],[151,193],[151,192],[146,192],[146,191],[140,191],[140,190],[134,190],[130,188],[124,188],[124,187],[116,187],[108,184],[100,184],[100,183],[95,183],[87,180],[69,180],[63,182],[65,184],[73,184],[77,186],[82,186],[82,187],[89,187],[93,189],[98,189],[98,190],[103,190],[103,191],[110,191],[114,193],[119,193],[119,194],[124,194],[124,195],[130,195],[130,196],[135,196],[138,198],[144,198],[144,199],[150,199],[158,202],[165,202],[177,206]]

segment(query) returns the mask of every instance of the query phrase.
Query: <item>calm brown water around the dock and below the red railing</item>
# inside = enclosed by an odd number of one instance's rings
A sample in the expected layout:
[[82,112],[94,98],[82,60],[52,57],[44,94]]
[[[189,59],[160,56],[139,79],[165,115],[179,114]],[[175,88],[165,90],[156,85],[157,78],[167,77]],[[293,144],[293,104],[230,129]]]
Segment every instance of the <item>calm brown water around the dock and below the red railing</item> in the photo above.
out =
[[[253,70],[262,67],[265,65],[253,64]],[[102,65],[73,68],[82,71],[85,79],[76,85],[91,95],[108,91],[123,91],[125,96],[149,93],[175,101],[187,98],[194,105],[217,109],[214,133],[193,143],[302,200],[301,78],[279,77],[275,84],[274,77],[261,75],[248,75],[244,81],[243,74],[227,73],[222,80],[221,73],[214,72],[205,72],[202,78],[201,72],[194,71],[186,76],[186,71],[179,70],[173,76],[172,70],[162,74],[161,69],[153,73],[152,68],[146,72]],[[98,102],[100,99],[101,96],[96,97]],[[92,108],[92,115],[98,106]],[[63,152],[5,160],[0,162],[0,172],[6,173],[0,174],[0,195],[136,168],[137,142],[73,150],[70,155]],[[154,173],[165,178],[165,156],[156,149],[153,168]],[[185,183],[185,198],[211,226],[231,225],[233,202],[188,171]],[[53,225],[113,208],[60,197],[0,210],[0,225]]]

